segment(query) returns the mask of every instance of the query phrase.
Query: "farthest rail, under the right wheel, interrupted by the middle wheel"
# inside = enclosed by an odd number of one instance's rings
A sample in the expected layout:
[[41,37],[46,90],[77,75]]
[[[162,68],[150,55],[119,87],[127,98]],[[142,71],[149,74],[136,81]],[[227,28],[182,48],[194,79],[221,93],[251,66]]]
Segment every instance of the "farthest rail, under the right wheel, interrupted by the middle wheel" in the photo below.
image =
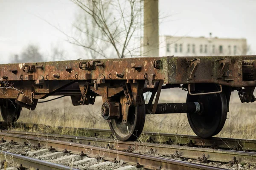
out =
[[[15,126],[20,126],[21,123],[15,123]],[[41,124],[25,123],[22,124],[23,127],[35,127],[43,126]],[[79,133],[79,136],[102,136],[110,138],[112,136],[111,130],[106,129],[87,129],[87,128],[75,128],[75,127],[56,127],[60,130],[67,130]],[[143,135],[148,138],[148,142],[158,142],[166,144],[176,144],[176,145],[192,145],[195,147],[210,147],[210,148],[220,148],[227,150],[247,150],[256,151],[256,140],[253,139],[233,139],[233,138],[222,138],[222,137],[212,137],[209,139],[202,139],[198,136],[192,135],[180,135],[172,133],[155,133],[155,132],[143,132]],[[141,136],[143,136],[141,135]]]

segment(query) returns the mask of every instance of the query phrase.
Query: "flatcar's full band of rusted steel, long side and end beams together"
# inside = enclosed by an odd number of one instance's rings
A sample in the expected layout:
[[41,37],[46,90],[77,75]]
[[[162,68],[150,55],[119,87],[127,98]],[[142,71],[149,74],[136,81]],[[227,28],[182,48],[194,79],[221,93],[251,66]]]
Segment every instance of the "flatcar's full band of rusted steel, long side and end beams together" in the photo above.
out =
[[[161,61],[160,69],[154,67],[154,60]],[[163,79],[164,84],[214,82],[229,86],[255,85],[254,81],[243,81],[242,79],[243,60],[256,60],[256,56],[99,59],[97,61],[104,63],[104,66],[95,67],[95,70],[79,68],[80,62],[90,62],[91,60],[2,64],[0,65],[0,76],[8,77],[6,80],[9,81],[35,81],[41,77],[44,77],[46,81],[87,80],[98,79],[101,75],[106,80],[144,80],[147,79],[145,74],[147,76],[154,74],[154,79]],[[196,69],[192,69],[192,63],[197,63]],[[25,72],[23,71],[23,65],[43,65],[43,69],[36,68],[35,72]],[[15,72],[12,72],[13,70]],[[122,74],[123,77],[119,77],[117,74]],[[225,74],[226,78],[223,78],[222,74]]]

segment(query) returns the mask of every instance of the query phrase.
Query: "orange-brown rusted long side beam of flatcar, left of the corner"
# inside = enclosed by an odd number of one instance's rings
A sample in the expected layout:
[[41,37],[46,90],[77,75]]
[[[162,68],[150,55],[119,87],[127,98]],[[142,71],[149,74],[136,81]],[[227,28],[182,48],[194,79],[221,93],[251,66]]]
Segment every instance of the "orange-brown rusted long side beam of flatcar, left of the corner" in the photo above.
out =
[[[161,59],[164,62],[163,67],[167,67],[166,57],[152,58],[127,58],[127,59],[100,59],[104,63],[104,67],[96,67],[95,70],[82,70],[79,68],[79,62],[89,62],[91,60],[73,60],[59,62],[38,62],[38,63],[19,63],[19,64],[3,64],[0,65],[1,77],[6,76],[8,80],[37,80],[42,75],[46,80],[86,80],[98,79],[103,74],[105,79],[145,79],[144,74],[155,74],[156,79],[168,79],[163,72],[165,69],[156,69],[153,66],[154,59]],[[36,72],[24,72],[23,65],[44,65],[43,69],[36,69]],[[140,72],[132,68],[132,65],[140,65]],[[16,74],[10,70],[17,70]],[[66,68],[72,68],[66,71]],[[90,74],[90,76],[88,76]],[[109,76],[111,74],[111,76]],[[124,77],[119,78],[116,74],[123,74]],[[59,77],[54,77],[58,75]],[[167,82],[167,81],[166,81]]]

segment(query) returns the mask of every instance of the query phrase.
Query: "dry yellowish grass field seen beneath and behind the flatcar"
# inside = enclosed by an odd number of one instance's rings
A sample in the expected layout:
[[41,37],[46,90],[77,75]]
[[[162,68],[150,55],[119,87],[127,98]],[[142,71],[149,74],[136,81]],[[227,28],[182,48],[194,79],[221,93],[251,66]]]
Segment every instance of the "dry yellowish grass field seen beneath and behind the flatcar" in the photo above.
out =
[[[160,96],[160,102],[185,101],[186,92],[177,88],[163,90]],[[109,129],[108,122],[102,119],[100,115],[101,105],[101,97],[96,98],[95,105],[88,106],[73,106],[70,97],[64,97],[52,102],[39,103],[35,111],[23,109],[18,122],[45,124],[52,127],[64,126]],[[234,91],[231,96],[230,112],[227,116],[228,119],[218,136],[255,139],[255,112],[256,105],[254,103],[242,104],[237,92]],[[157,116],[147,115],[144,131],[195,135],[189,126],[186,114],[182,113]],[[64,131],[63,133],[66,132]]]

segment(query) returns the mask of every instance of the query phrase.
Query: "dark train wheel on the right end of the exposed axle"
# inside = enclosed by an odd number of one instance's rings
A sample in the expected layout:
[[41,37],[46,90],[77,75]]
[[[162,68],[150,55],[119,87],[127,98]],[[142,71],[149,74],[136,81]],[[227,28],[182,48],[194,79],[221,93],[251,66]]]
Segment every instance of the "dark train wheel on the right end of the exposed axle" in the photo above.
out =
[[[195,93],[218,91],[215,84],[195,84]],[[187,102],[201,102],[204,105],[202,113],[187,113],[189,125],[195,134],[201,138],[217,135],[227,119],[227,98],[224,92],[206,95],[187,95]]]

